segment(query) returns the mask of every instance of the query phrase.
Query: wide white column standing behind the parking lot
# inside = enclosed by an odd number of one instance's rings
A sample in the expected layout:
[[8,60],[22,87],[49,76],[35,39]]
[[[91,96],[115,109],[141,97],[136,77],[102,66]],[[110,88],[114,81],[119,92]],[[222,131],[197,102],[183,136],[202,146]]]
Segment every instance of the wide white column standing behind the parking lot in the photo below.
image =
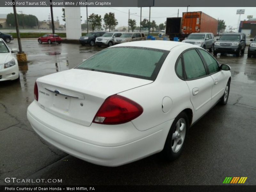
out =
[[79,39],[82,35],[80,7],[65,7],[67,39]]

